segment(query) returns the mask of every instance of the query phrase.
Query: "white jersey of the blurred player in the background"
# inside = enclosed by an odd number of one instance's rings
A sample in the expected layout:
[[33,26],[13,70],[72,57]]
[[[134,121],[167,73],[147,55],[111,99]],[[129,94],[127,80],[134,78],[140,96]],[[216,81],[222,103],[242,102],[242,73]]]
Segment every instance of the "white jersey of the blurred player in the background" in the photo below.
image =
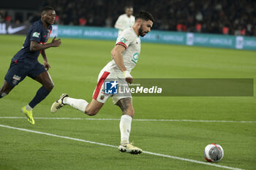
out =
[[115,28],[119,30],[118,36],[120,36],[125,29],[132,27],[134,23],[135,17],[133,15],[130,17],[128,17],[127,14],[120,15],[115,24]]

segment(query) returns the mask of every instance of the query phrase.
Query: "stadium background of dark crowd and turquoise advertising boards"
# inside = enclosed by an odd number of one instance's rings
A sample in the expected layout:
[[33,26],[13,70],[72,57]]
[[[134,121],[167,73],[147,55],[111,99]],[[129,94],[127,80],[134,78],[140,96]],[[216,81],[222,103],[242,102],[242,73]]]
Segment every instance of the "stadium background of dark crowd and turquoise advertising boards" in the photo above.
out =
[[81,0],[40,1],[39,4],[4,1],[0,8],[0,33],[13,34],[8,31],[9,26],[26,26],[15,32],[26,34],[30,24],[40,18],[40,7],[50,5],[57,12],[52,36],[114,40],[113,26],[118,16],[124,13],[124,7],[132,6],[135,13],[148,10],[156,18],[153,30],[159,31],[152,31],[142,39],[145,42],[256,49],[255,1],[161,1],[159,4],[157,1]]

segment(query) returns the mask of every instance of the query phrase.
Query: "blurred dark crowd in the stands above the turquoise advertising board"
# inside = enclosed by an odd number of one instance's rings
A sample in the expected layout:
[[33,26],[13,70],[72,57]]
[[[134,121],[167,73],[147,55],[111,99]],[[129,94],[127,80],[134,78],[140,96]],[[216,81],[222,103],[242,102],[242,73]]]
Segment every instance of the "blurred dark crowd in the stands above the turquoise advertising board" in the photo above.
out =
[[[42,5],[56,9],[59,25],[113,27],[124,7],[132,6],[135,13],[151,12],[155,18],[153,28],[157,30],[256,36],[253,0],[48,0]],[[31,14],[23,22],[32,23],[39,18],[39,13]],[[0,23],[4,20],[17,22],[0,10]]]

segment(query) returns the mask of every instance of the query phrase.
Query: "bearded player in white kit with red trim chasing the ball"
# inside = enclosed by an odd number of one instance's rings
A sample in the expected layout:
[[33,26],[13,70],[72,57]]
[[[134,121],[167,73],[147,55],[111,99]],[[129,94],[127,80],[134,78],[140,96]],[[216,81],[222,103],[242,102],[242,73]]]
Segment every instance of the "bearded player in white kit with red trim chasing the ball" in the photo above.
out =
[[154,18],[149,12],[139,12],[135,16],[135,24],[132,28],[127,28],[121,36],[118,36],[116,46],[111,50],[112,60],[101,70],[98,77],[97,87],[93,93],[93,99],[90,103],[83,99],[70,98],[67,94],[62,94],[51,107],[51,112],[56,112],[66,104],[78,109],[86,115],[96,115],[99,109],[109,97],[113,103],[118,105],[122,110],[120,120],[121,142],[118,150],[121,152],[130,152],[132,154],[140,154],[142,150],[129,143],[129,133],[131,131],[132,117],[135,115],[132,106],[132,96],[129,93],[127,96],[118,94],[106,94],[104,82],[108,79],[125,80],[124,82],[132,83],[131,70],[138,62],[140,54],[140,37],[145,36],[151,31]]

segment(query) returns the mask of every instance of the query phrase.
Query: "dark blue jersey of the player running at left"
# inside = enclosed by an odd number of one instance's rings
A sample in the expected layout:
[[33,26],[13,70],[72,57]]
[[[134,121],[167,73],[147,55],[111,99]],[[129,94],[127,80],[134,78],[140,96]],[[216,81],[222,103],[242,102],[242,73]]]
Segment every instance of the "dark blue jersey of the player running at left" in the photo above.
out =
[[28,34],[26,35],[23,48],[15,54],[15,56],[12,58],[12,61],[15,63],[17,61],[22,61],[30,66],[37,63],[37,58],[41,51],[30,51],[30,42],[35,41],[39,44],[45,44],[50,37],[51,30],[52,26],[49,26],[48,29],[42,26],[42,20],[37,20],[34,22],[29,28]]

